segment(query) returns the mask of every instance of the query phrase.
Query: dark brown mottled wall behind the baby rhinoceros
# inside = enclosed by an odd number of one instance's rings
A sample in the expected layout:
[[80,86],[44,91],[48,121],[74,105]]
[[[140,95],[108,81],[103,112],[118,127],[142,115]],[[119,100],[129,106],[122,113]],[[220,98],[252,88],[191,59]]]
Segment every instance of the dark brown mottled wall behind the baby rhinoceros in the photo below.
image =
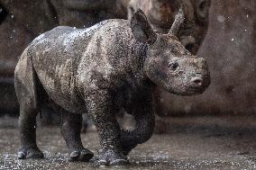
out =
[[[111,5],[99,4],[90,10],[74,10],[63,2],[0,0],[1,112],[17,111],[14,67],[23,49],[39,33],[58,24],[76,26],[79,21],[78,26],[83,27],[107,18],[126,17],[127,0],[112,0]],[[253,0],[212,1],[209,29],[198,54],[210,66],[212,85],[205,94],[193,97],[162,93],[163,115],[256,113],[255,9]]]

